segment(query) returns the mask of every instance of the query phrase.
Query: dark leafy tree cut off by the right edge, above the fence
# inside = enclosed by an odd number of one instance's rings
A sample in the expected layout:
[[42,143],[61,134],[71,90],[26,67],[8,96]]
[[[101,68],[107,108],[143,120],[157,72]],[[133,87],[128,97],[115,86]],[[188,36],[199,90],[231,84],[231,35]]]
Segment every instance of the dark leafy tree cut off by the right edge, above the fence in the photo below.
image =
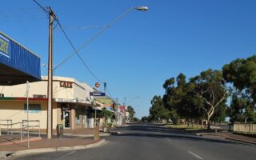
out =
[[238,58],[222,67],[223,78],[235,87],[231,122],[256,122],[256,56]]

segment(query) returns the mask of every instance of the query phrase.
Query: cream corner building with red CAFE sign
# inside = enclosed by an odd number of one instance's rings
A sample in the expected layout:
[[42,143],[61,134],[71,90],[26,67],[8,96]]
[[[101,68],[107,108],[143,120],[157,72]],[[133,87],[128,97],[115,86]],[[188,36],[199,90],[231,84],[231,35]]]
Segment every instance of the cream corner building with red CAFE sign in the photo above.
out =
[[[96,102],[90,92],[95,89],[74,78],[54,77],[53,81],[53,127],[62,124],[66,129],[92,128],[95,110],[100,112],[102,104]],[[47,77],[41,82],[31,82],[28,87],[28,108],[26,84],[0,86],[0,117],[12,123],[39,120],[40,128],[47,127]],[[29,110],[27,110],[29,109]],[[15,126],[14,126],[15,127]]]

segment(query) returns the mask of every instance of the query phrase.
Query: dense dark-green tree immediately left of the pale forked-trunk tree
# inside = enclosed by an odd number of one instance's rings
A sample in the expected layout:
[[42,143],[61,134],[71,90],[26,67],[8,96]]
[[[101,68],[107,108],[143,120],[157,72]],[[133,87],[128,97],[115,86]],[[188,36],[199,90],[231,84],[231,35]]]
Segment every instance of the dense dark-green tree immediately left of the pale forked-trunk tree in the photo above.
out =
[[166,94],[162,100],[170,110],[174,124],[178,122],[178,118],[193,122],[194,119],[202,117],[202,111],[198,107],[201,99],[194,94],[194,83],[186,82],[185,74],[178,74],[176,83],[174,78],[167,79],[163,87],[166,89]]

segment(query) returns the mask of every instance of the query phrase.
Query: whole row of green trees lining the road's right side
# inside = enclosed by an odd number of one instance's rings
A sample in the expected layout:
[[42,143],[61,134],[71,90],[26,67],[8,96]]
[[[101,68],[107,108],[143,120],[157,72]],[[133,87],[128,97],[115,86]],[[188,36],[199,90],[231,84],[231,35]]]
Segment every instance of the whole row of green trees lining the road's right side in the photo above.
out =
[[[228,87],[227,87],[228,86]],[[238,58],[222,70],[204,70],[187,80],[185,74],[166,79],[163,96],[154,96],[150,116],[153,121],[170,118],[174,124],[179,119],[187,122],[206,120],[223,122],[256,122],[256,56]],[[231,90],[233,89],[233,90]],[[231,106],[226,105],[231,95]]]

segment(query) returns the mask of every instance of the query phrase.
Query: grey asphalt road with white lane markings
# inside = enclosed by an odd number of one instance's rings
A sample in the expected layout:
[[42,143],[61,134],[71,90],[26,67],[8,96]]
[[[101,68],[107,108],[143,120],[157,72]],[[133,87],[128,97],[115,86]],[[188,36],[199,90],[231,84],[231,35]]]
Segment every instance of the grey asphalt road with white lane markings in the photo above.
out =
[[98,148],[50,154],[34,154],[17,159],[86,160],[222,160],[256,159],[256,146],[239,142],[202,138],[153,125],[131,125],[118,129],[121,134],[106,138]]

